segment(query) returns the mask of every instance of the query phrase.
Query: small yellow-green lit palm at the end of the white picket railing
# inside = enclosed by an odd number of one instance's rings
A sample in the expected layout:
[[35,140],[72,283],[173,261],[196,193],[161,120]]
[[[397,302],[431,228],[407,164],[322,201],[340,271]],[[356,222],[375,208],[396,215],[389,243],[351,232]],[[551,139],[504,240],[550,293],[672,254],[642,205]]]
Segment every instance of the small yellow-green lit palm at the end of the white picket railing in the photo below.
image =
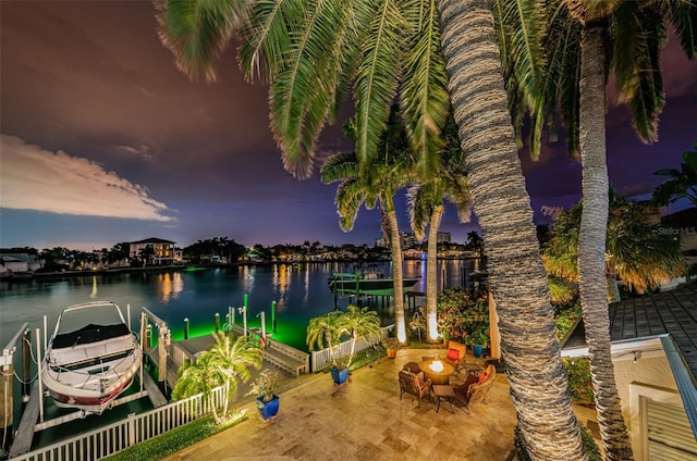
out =
[[[203,352],[194,363],[185,362],[179,370],[176,386],[172,389],[174,400],[204,394],[213,412],[216,422],[221,422],[228,414],[228,406],[237,389],[237,379],[246,382],[250,373],[248,367],[261,366],[262,351],[241,336],[236,340],[225,332],[212,334],[216,342]],[[212,390],[223,386],[222,413],[217,414],[212,400]]]

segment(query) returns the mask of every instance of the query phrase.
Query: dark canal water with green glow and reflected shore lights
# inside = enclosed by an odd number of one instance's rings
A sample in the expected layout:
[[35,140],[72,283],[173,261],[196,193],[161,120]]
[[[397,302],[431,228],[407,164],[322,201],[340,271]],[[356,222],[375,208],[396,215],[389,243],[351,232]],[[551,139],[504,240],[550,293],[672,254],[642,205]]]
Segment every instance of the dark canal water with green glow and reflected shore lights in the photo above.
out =
[[[438,264],[439,288],[462,286],[465,281],[470,286],[467,275],[475,267],[473,260],[448,260],[439,261]],[[173,340],[183,339],[186,317],[189,320],[189,337],[201,336],[213,332],[216,313],[220,314],[221,326],[224,327],[229,307],[242,307],[246,296],[249,327],[260,325],[259,314],[264,311],[267,332],[271,333],[271,303],[276,302],[277,332],[273,333],[273,339],[307,350],[305,329],[308,320],[335,307],[343,310],[353,301],[345,297],[335,298],[329,290],[328,278],[333,272],[351,272],[354,269],[353,264],[346,263],[308,263],[245,265],[191,272],[85,275],[15,283],[3,281],[0,283],[0,344],[5,347],[24,322],[28,323],[34,340],[35,329],[42,329],[45,315],[49,329],[47,334],[50,335],[64,307],[91,300],[113,301],[122,308],[124,316],[126,307],[130,306],[134,331],[138,329],[140,309],[145,307],[168,322]],[[387,263],[378,269],[391,274],[390,265]],[[404,276],[420,276],[413,289],[425,291],[426,262],[406,261]],[[378,299],[372,306],[380,313],[383,324],[392,322],[393,303],[383,304]],[[240,313],[235,313],[235,322],[242,324]],[[21,353],[15,354],[15,370],[21,370],[20,356]],[[14,393],[15,428],[20,415],[20,387],[15,386]],[[47,419],[65,412],[52,407],[50,399],[46,402]],[[38,433],[35,435],[35,446],[42,446],[94,427],[95,423],[90,421],[96,418],[100,419],[99,424],[102,423],[101,420],[105,420],[105,423],[106,420],[115,421],[129,413],[145,411],[148,404],[147,399],[140,399],[109,410],[102,416],[88,416],[87,420],[78,420]]]

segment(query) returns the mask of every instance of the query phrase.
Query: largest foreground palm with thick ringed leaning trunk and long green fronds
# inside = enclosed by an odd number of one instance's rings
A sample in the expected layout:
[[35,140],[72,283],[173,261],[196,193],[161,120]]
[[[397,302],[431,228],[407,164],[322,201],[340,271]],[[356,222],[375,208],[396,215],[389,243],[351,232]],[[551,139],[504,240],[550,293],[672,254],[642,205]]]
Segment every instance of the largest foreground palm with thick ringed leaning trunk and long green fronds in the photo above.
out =
[[[163,3],[158,13],[168,18],[161,20],[163,28],[188,30],[160,35],[166,43],[172,36],[185,37],[181,40],[184,46],[168,43],[178,59],[191,58],[182,52],[188,48],[224,42],[231,32],[216,27],[228,24],[232,28],[237,18],[230,14],[230,21],[215,22],[207,34],[199,34],[200,21],[183,15],[176,21],[166,0]],[[187,4],[205,9],[203,3],[208,2]],[[526,16],[523,9],[514,13]],[[465,170],[490,258],[502,351],[521,431],[534,459],[583,459],[554,340],[553,311],[529,196],[506,112],[488,2],[260,0],[245,15],[242,65],[248,78],[260,71],[270,82],[271,128],[285,167],[298,177],[311,173],[318,133],[339,112],[351,89],[358,121],[359,167],[371,165],[390,107],[398,99],[425,176],[442,145],[440,132],[452,99],[466,154]],[[216,39],[208,39],[209,34]],[[526,43],[525,39],[518,42],[522,47]],[[201,64],[195,59],[188,63]],[[203,64],[200,75],[206,75],[210,61]],[[525,341],[521,340],[522,331]]]

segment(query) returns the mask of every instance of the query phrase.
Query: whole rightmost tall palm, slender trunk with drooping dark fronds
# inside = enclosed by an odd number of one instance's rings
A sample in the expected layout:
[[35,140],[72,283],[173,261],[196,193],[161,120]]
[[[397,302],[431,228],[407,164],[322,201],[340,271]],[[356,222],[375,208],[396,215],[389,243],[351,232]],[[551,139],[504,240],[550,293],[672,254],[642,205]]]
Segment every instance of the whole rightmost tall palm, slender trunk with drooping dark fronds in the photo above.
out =
[[[587,325],[591,374],[597,393],[598,422],[609,459],[632,459],[610,358],[608,304],[604,292],[606,224],[609,178],[606,161],[606,87],[614,75],[617,94],[627,102],[634,127],[645,141],[657,139],[658,115],[664,98],[659,57],[665,43],[669,18],[692,59],[697,50],[694,2],[660,0],[554,0],[547,3],[543,74],[516,72],[516,53],[510,53],[510,105],[519,125],[523,101],[530,107],[531,153],[539,152],[543,117],[554,135],[558,103],[567,128],[568,151],[580,154],[584,207],[578,239],[579,290]],[[503,21],[503,20],[501,20]],[[499,28],[505,45],[506,29]],[[510,47],[509,47],[510,48]],[[521,91],[521,78],[543,75],[536,94]],[[540,80],[542,82],[542,80]],[[528,87],[526,87],[528,88]]]

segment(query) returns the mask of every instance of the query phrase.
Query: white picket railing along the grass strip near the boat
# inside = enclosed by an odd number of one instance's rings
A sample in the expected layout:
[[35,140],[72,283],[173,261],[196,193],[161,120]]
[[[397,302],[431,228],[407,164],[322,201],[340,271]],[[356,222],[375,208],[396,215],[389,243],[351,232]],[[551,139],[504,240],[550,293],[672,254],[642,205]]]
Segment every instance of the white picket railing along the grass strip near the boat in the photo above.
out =
[[[221,407],[222,387],[212,391],[212,402]],[[12,461],[98,460],[118,453],[157,435],[180,427],[211,412],[201,394],[169,403],[143,414],[131,414],[105,427],[12,458]]]

